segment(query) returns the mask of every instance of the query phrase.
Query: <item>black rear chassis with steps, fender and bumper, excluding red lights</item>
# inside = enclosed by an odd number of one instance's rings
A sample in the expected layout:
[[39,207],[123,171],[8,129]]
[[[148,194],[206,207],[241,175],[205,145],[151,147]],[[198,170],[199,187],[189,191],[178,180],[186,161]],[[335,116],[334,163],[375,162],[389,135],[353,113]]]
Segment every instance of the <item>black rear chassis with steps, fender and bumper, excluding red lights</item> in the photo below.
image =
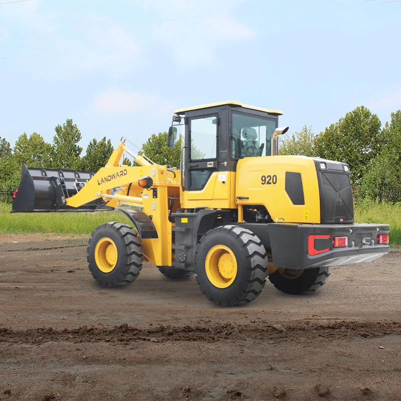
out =
[[[388,234],[384,224],[281,224],[272,223],[263,210],[249,210],[248,222],[238,223],[232,210],[202,209],[197,213],[175,213],[173,227],[173,266],[191,270],[195,263],[196,246],[209,230],[235,225],[250,230],[271,255],[276,267],[286,269],[308,269],[321,266],[367,262],[389,252],[388,244],[377,244],[378,234]],[[269,220],[270,219],[270,220]],[[266,222],[268,221],[268,222]],[[266,222],[266,223],[265,223]],[[310,237],[324,236],[327,250],[310,254]],[[333,248],[333,237],[347,236],[348,246]]]

